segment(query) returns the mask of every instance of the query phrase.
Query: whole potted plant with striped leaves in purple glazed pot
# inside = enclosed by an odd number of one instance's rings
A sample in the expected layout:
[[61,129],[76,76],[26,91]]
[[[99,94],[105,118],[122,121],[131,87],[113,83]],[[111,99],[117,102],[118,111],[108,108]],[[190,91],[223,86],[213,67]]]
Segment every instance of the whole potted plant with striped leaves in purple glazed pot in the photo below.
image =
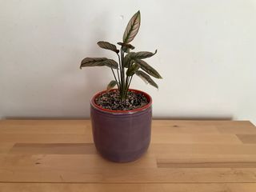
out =
[[[80,69],[86,66],[108,66],[114,75],[106,90],[95,94],[90,101],[90,117],[94,144],[104,158],[114,162],[131,162],[144,154],[150,145],[152,98],[141,90],[130,89],[134,74],[158,88],[150,76],[162,78],[144,58],[157,53],[133,52],[130,42],[138,33],[141,15],[138,11],[126,26],[120,49],[110,42],[98,46],[112,50],[118,62],[109,58],[84,58]],[[118,89],[113,89],[117,86]]]

